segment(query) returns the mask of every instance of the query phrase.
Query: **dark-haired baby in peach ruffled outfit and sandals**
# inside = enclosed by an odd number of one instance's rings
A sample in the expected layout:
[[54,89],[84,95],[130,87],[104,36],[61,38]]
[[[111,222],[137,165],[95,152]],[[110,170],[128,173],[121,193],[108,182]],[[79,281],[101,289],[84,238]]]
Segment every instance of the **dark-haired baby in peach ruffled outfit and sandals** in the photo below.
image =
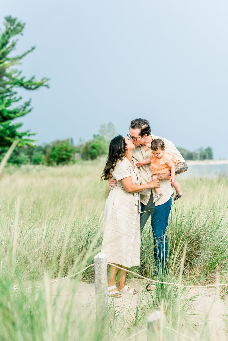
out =
[[[148,158],[144,161],[137,162],[137,166],[140,167],[142,165],[151,163],[151,170],[153,173],[152,180],[158,178],[159,174],[167,173],[169,170],[171,172],[171,176],[168,177],[169,181],[173,185],[176,190],[176,195],[174,200],[182,198],[183,194],[181,193],[180,185],[175,180],[175,166],[178,163],[177,156],[175,154],[169,153],[165,151],[165,144],[163,140],[156,138],[151,143],[151,158]],[[162,197],[162,193],[159,187],[155,187],[156,195],[154,197],[154,203]]]

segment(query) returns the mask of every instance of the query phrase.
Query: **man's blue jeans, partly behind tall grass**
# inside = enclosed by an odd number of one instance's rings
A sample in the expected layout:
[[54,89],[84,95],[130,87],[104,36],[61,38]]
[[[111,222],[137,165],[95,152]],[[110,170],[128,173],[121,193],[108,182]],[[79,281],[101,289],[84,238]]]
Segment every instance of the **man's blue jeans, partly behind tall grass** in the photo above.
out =
[[155,276],[165,276],[165,265],[168,255],[168,242],[166,228],[168,225],[169,213],[172,205],[172,198],[162,205],[155,206],[154,197],[151,192],[148,204],[141,203],[140,228],[141,234],[143,228],[151,216],[151,227],[154,237],[154,258],[156,264]]

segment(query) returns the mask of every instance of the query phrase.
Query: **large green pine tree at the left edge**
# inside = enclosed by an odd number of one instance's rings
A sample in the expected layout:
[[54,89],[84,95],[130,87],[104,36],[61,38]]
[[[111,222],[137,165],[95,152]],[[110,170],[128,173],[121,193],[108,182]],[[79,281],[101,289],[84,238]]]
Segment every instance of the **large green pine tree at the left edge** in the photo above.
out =
[[[24,88],[36,90],[41,86],[48,88],[47,78],[40,81],[35,80],[35,76],[25,79],[22,71],[15,69],[15,65],[34,50],[34,46],[22,55],[11,57],[11,52],[15,50],[17,40],[16,35],[22,35],[25,24],[11,16],[5,17],[4,31],[0,31],[0,147],[10,146],[15,139],[18,139],[18,146],[31,145],[34,140],[29,136],[34,135],[29,131],[18,132],[22,123],[12,123],[17,117],[22,117],[31,112],[31,100],[19,105],[22,97],[17,96],[16,89]],[[17,104],[18,103],[18,104]]]

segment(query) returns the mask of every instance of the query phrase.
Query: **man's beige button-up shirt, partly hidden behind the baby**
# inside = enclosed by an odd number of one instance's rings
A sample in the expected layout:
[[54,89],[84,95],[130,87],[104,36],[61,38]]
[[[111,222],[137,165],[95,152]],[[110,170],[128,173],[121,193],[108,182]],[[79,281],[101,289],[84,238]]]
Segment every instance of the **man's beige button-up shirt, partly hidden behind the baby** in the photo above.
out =
[[[183,156],[181,155],[179,150],[176,149],[176,147],[171,141],[167,140],[166,138],[155,136],[153,134],[151,134],[151,136],[153,140],[156,138],[161,138],[165,143],[166,150],[170,153],[177,155],[178,160],[180,162],[185,162]],[[132,150],[132,156],[137,161],[143,161],[145,159],[148,159],[151,157],[151,147],[148,147],[145,151],[145,149],[142,146],[137,146],[136,148]],[[140,166],[139,173],[141,176],[141,183],[147,183],[152,180],[152,171],[151,171],[150,164]],[[158,201],[155,202],[155,206],[165,204],[169,200],[169,198],[174,195],[173,187],[168,179],[160,181],[160,190],[163,193],[163,196]],[[152,189],[152,192],[153,192],[153,196],[155,196],[156,192],[154,188]],[[141,202],[144,205],[147,205],[150,196],[151,196],[151,189],[149,188],[140,192]]]

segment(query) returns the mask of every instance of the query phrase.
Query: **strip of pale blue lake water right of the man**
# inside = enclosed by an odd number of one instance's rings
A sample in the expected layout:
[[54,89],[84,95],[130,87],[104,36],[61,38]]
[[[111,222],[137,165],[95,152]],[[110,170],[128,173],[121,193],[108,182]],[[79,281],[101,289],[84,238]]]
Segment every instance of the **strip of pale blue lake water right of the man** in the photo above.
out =
[[[187,162],[188,164],[188,162]],[[180,176],[180,175],[179,175]],[[187,172],[181,177],[217,177],[228,176],[228,164],[223,165],[191,165],[188,164]]]

